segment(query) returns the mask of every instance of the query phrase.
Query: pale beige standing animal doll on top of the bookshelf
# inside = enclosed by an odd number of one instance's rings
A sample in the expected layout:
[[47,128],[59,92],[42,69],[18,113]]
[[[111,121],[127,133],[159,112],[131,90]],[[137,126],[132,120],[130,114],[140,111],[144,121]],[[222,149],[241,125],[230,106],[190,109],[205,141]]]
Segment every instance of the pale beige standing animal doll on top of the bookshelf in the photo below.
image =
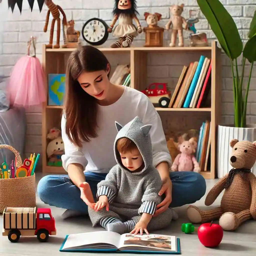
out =
[[[188,28],[188,24],[186,19],[181,16],[183,12],[184,4],[181,5],[173,5],[170,7],[170,12],[172,13],[172,17],[169,19],[168,23],[165,25],[165,29],[169,30],[170,25],[172,25],[172,38],[170,42],[170,47],[174,47],[176,44],[177,34],[179,36],[179,44],[178,46],[184,46],[184,39],[183,39],[183,29]],[[185,28],[183,28],[183,26]]]

